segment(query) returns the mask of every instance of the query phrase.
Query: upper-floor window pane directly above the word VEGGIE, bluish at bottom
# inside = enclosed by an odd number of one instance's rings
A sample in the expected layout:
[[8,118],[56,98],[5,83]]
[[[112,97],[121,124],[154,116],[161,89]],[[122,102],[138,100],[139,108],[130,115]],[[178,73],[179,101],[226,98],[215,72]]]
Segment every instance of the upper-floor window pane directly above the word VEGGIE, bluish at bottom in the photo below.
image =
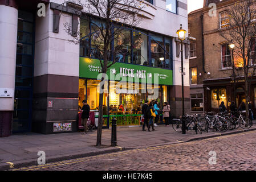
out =
[[115,39],[115,59],[120,63],[131,63],[131,31],[117,30]]

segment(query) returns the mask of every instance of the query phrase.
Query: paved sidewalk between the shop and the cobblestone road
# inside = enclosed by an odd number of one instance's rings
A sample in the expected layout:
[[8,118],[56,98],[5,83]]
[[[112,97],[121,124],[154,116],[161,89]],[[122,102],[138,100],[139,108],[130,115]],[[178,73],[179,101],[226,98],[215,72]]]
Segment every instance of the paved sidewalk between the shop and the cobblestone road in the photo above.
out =
[[118,147],[111,147],[111,129],[103,130],[102,147],[95,147],[96,130],[88,132],[87,135],[82,135],[82,133],[14,134],[11,137],[0,138],[0,170],[9,169],[10,164],[7,164],[7,162],[13,163],[15,168],[36,165],[39,157],[37,155],[38,151],[46,153],[47,162],[55,162],[131,148],[188,142],[251,130],[256,130],[255,124],[249,130],[240,128],[233,131],[228,130],[225,133],[209,131],[209,133],[202,134],[196,134],[193,130],[189,130],[186,131],[185,135],[174,131],[172,125],[169,127],[159,125],[152,132],[142,131],[142,127],[117,128]]

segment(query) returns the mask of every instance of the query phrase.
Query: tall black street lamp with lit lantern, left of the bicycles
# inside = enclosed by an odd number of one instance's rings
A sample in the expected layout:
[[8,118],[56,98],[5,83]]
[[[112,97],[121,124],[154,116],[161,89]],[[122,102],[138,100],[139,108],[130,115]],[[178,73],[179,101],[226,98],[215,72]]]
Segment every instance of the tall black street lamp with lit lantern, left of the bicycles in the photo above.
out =
[[185,126],[185,108],[184,108],[184,72],[183,72],[183,41],[185,40],[186,31],[182,29],[182,24],[180,24],[180,29],[176,32],[178,34],[178,39],[181,41],[181,85],[182,85],[182,134],[186,134]]

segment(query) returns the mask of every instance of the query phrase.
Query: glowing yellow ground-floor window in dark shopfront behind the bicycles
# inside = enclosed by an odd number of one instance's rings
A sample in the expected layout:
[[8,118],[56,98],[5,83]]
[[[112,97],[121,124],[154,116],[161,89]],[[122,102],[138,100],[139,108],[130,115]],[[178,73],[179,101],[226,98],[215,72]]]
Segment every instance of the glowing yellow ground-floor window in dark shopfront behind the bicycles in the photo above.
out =
[[222,101],[224,101],[225,106],[227,106],[226,89],[225,88],[213,89],[212,100],[211,100],[212,108],[218,109]]

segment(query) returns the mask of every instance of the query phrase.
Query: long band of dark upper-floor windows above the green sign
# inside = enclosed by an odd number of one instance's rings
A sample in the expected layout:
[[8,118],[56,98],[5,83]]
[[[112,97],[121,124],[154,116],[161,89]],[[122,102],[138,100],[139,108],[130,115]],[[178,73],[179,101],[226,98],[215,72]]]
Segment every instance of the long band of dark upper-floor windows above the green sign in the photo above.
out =
[[[80,56],[103,59],[104,41],[100,28],[105,23],[95,18],[81,18]],[[113,46],[114,51],[110,51]],[[156,68],[172,68],[172,39],[129,27],[115,28],[115,39],[109,44],[108,59]],[[113,55],[112,55],[113,53]],[[152,58],[152,59],[150,59]]]

